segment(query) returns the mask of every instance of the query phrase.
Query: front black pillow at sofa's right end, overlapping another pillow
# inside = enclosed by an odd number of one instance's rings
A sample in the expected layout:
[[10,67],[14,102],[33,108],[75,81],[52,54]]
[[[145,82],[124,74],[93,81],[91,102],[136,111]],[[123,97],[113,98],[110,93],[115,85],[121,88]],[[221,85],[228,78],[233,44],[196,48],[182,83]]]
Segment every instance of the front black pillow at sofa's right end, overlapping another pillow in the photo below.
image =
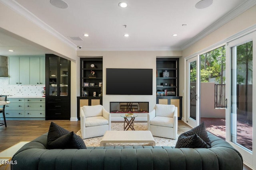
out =
[[207,144],[196,134],[191,136],[180,135],[175,148],[208,148]]

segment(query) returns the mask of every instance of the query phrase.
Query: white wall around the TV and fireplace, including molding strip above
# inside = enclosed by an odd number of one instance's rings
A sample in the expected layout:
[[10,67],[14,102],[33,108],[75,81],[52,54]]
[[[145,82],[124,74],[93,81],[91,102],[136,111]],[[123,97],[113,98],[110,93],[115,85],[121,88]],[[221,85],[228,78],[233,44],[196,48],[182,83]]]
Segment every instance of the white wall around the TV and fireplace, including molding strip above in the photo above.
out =
[[[156,57],[176,58],[181,55],[181,51],[78,51],[79,57],[103,57],[102,105],[107,111],[110,110],[110,102],[149,102],[149,110],[151,111],[156,104]],[[104,86],[106,84],[106,68],[152,68],[153,95],[106,95],[106,86]],[[136,120],[146,121],[146,114],[138,115]],[[112,120],[123,120],[117,113],[112,114],[112,117]]]

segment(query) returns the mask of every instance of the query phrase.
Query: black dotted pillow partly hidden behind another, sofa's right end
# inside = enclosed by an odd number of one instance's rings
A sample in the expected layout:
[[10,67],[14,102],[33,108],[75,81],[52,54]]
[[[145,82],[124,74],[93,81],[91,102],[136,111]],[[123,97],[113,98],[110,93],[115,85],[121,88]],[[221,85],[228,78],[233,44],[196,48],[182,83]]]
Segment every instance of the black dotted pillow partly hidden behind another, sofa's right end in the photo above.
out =
[[198,135],[207,144],[208,148],[211,147],[211,141],[208,137],[204,122],[202,122],[197,127],[191,129],[190,131],[186,131],[186,132],[182,133],[182,135],[184,135],[185,137],[188,137],[188,136],[191,136],[194,134]]

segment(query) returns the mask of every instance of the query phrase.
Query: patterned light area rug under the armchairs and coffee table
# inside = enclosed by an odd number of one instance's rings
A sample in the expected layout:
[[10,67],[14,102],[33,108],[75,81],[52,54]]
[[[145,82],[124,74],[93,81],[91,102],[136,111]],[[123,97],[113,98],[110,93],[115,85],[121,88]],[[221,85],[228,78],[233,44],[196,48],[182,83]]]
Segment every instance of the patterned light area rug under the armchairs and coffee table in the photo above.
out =
[[[134,123],[134,129],[136,131],[147,131],[148,125],[147,123]],[[112,131],[123,131],[124,130],[124,123],[111,123],[111,130]],[[79,135],[81,137],[81,130],[79,130],[76,135]],[[102,140],[102,137],[93,137],[84,139],[84,143],[86,147],[99,147],[100,141]],[[154,140],[156,141],[156,146],[175,146],[177,142],[178,136],[176,140],[174,139],[167,139],[162,137],[154,137]],[[106,146],[147,146],[148,143],[107,143]]]

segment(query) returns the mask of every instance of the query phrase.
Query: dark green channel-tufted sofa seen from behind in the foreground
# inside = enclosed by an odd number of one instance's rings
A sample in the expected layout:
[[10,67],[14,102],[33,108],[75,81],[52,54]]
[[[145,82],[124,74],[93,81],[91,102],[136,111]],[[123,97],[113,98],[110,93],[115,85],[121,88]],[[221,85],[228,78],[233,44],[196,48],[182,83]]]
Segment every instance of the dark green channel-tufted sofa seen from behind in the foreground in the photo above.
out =
[[174,147],[87,147],[46,149],[47,133],[13,156],[12,170],[242,170],[240,153],[208,133],[210,149]]

